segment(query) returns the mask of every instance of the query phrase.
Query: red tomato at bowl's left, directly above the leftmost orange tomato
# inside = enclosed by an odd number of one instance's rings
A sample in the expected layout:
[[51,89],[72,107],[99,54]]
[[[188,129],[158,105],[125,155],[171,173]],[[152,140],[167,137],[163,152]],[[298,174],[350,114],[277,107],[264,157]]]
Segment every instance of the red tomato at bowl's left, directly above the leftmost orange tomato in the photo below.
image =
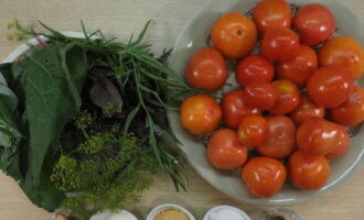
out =
[[227,79],[227,66],[223,55],[210,47],[197,51],[186,68],[185,78],[190,86],[207,91],[217,91]]

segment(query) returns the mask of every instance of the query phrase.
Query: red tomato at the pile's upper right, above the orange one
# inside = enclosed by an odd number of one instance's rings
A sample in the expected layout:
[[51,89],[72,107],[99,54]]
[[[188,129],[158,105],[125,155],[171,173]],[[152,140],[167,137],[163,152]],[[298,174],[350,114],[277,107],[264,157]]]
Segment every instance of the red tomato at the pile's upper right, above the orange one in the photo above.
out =
[[314,46],[328,41],[335,32],[335,16],[326,7],[310,3],[302,7],[293,18],[303,44]]

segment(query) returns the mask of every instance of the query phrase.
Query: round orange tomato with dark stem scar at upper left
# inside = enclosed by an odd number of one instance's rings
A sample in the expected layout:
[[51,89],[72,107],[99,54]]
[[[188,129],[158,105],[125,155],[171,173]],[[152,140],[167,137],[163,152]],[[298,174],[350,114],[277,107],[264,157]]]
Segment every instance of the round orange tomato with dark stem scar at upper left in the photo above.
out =
[[254,22],[238,12],[221,16],[213,26],[212,42],[226,58],[237,59],[251,53],[257,42]]

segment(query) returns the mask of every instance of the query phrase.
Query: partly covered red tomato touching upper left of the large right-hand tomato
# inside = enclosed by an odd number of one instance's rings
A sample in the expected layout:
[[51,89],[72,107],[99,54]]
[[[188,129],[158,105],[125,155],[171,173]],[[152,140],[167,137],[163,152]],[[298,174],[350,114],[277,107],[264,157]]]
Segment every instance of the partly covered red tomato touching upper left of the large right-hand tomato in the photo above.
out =
[[277,64],[277,75],[280,79],[291,80],[299,87],[304,87],[307,80],[318,69],[318,55],[306,45],[300,45],[298,55],[288,61]]

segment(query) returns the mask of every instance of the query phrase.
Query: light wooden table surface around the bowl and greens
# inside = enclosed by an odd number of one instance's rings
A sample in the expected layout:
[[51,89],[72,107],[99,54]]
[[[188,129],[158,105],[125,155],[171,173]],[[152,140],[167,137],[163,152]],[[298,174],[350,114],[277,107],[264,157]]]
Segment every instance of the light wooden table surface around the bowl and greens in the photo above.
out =
[[[36,20],[63,31],[81,31],[82,19],[88,30],[101,29],[109,35],[127,40],[138,33],[143,24],[156,20],[147,41],[154,50],[171,47],[186,21],[208,0],[1,0],[0,7],[0,59],[20,43],[9,42],[7,24],[18,18],[26,24]],[[342,0],[364,18],[363,0]],[[233,200],[205,183],[191,168],[188,193],[175,193],[165,176],[156,178],[153,187],[142,195],[140,202],[129,207],[139,219],[164,202],[180,204],[197,219],[216,205],[234,205],[247,212],[256,207]],[[363,220],[364,219],[364,167],[334,191],[311,202],[292,206],[304,220]],[[0,174],[0,220],[43,220],[49,216],[33,206],[18,185]]]

